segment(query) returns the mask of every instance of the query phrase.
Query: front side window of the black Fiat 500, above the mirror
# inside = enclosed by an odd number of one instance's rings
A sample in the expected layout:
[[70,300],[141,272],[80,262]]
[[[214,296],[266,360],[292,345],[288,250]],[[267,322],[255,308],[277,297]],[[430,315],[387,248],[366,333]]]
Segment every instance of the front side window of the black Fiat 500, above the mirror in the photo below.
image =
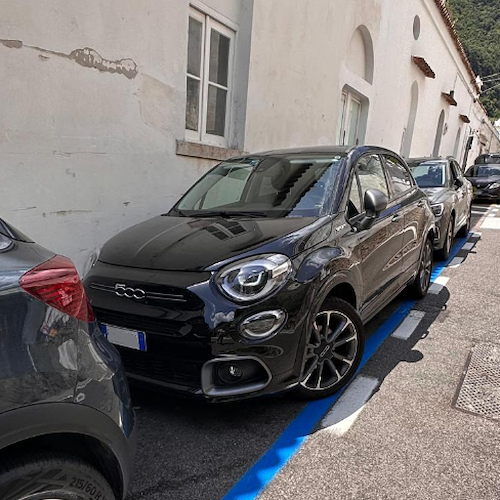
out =
[[364,197],[369,189],[378,189],[389,197],[389,189],[382,162],[378,155],[367,155],[359,160],[352,181],[347,214],[349,218],[364,212]]

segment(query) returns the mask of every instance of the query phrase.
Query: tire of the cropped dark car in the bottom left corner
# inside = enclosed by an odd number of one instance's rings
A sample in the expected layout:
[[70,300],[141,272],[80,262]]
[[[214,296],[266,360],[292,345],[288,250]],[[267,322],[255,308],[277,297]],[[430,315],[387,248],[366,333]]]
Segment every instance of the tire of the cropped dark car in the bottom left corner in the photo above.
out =
[[0,465],[2,500],[116,500],[104,477],[79,458],[34,454]]

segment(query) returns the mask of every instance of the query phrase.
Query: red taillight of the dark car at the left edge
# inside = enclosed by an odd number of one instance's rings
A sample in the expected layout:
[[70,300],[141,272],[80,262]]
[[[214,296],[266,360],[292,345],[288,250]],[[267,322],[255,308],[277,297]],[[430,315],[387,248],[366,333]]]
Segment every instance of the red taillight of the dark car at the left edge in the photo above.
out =
[[33,297],[73,318],[86,323],[95,320],[78,271],[66,257],[56,255],[31,269],[19,284]]

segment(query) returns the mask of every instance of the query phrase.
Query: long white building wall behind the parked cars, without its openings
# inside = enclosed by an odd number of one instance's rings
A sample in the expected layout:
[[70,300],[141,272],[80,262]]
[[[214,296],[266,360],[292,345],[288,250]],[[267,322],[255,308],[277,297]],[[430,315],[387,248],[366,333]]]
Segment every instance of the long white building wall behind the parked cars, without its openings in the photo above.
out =
[[[400,151],[417,81],[412,155],[431,154],[442,109],[442,155],[452,154],[460,125],[460,155],[469,130],[476,136],[470,161],[500,150],[433,0],[191,3],[237,33],[232,148],[336,143],[348,85],[370,101],[365,142]],[[189,0],[0,6],[0,216],[82,269],[94,248],[168,210],[215,163],[176,154],[185,139]],[[359,55],[360,25],[373,41],[373,84],[359,76],[359,61],[347,60],[350,51]],[[109,61],[127,59],[126,74],[78,63],[73,51],[85,47]],[[425,57],[436,80],[411,55]],[[457,108],[441,98],[452,89]]]

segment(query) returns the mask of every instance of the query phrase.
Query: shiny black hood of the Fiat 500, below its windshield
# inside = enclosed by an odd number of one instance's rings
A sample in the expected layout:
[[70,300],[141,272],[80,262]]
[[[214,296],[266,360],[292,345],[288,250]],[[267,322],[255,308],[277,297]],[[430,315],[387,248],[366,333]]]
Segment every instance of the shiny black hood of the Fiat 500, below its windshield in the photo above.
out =
[[201,271],[235,257],[283,253],[293,257],[324,240],[331,218],[191,218],[159,216],[111,238],[99,260],[163,271]]

